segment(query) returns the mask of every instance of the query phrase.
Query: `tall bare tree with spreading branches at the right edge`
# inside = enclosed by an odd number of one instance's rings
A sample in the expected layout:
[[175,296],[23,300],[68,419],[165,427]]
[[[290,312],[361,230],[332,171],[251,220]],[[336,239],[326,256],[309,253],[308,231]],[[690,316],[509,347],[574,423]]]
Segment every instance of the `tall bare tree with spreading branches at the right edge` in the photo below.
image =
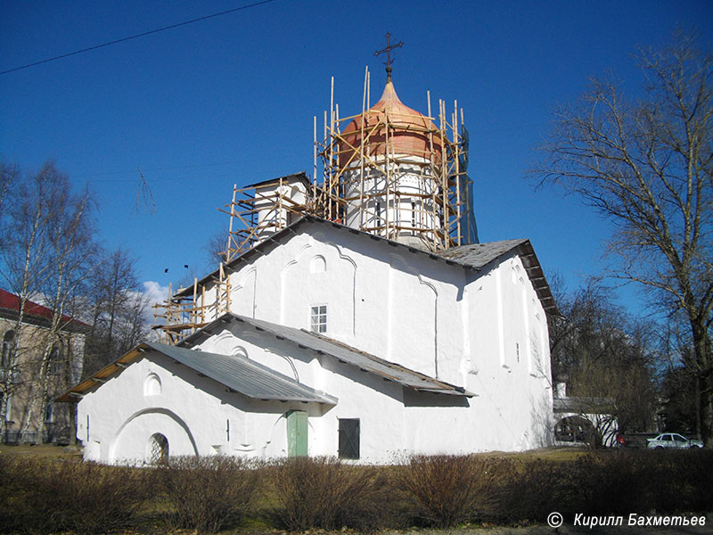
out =
[[590,91],[555,112],[534,169],[615,224],[611,275],[641,284],[652,303],[680,310],[693,346],[701,434],[713,446],[713,56],[693,37],[639,56],[643,96],[593,80]]

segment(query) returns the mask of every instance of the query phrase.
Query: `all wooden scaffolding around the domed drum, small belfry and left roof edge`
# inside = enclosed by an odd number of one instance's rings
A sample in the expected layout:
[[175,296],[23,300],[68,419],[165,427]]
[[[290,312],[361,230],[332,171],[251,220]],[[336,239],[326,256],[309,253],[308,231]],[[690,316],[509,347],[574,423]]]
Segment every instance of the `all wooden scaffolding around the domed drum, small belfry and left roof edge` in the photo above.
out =
[[[234,185],[231,202],[218,209],[230,216],[221,255],[225,265],[303,215],[348,224],[390,240],[416,236],[418,246],[432,252],[469,243],[471,234],[465,227],[472,206],[466,169],[467,137],[461,134],[463,110],[455,102],[454,111],[447,114],[446,103],[438,101],[438,117],[434,118],[430,94],[427,96],[428,115],[414,115],[423,126],[410,124],[409,132],[428,139],[428,144],[415,154],[416,158],[413,152],[405,157],[393,145],[402,125],[388,112],[368,125],[361,120],[358,132],[344,132],[352,120],[363,119],[370,111],[369,70],[365,70],[362,112],[348,117],[340,117],[339,104],[334,103],[332,78],[330,110],[324,111],[321,140],[317,139],[314,119],[312,180],[299,173],[241,188]],[[355,137],[358,144],[353,143]],[[380,145],[378,150],[374,150],[376,144]],[[404,189],[397,172],[402,166],[408,167],[410,178],[422,182],[420,193]],[[376,176],[382,184],[379,191],[373,191]],[[408,200],[414,201],[412,208]],[[400,215],[389,218],[393,213],[389,207],[395,206]],[[379,213],[379,207],[387,210]],[[424,225],[424,221],[430,224]],[[173,294],[169,286],[168,299],[154,305],[153,328],[162,342],[180,342],[230,311],[231,284],[224,263],[208,280],[194,280],[193,287],[179,288]]]

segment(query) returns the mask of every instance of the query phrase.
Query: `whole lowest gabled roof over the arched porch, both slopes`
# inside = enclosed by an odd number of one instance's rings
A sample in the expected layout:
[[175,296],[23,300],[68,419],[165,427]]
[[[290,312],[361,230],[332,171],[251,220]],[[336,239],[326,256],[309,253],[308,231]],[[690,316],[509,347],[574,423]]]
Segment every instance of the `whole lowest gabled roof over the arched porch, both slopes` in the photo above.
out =
[[197,374],[205,375],[223,384],[229,391],[240,392],[252,399],[277,399],[280,401],[316,402],[336,405],[337,399],[298,383],[291,377],[278,374],[266,366],[261,366],[249,358],[239,355],[220,355],[206,351],[189,350],[157,342],[145,342],[82,383],[64,392],[57,401],[75,401],[111,377],[120,374],[127,366],[154,351],[171,358],[178,364],[187,366]]

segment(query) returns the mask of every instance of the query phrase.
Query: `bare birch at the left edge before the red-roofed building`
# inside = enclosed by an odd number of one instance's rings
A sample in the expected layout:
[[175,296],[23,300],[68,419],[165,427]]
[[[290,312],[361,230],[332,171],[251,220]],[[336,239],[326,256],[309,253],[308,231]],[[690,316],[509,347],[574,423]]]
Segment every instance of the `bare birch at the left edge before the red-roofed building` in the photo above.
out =
[[[4,208],[0,272],[4,284],[18,296],[19,308],[13,328],[16,343],[9,358],[12,373],[4,374],[2,388],[5,394],[23,392],[26,404],[20,432],[25,440],[36,420],[42,436],[46,408],[61,370],[81,365],[81,355],[67,333],[75,312],[72,305],[97,262],[96,207],[91,193],[73,193],[69,177],[47,162],[39,172],[16,181]],[[41,301],[49,310],[39,330],[26,322],[31,300]],[[77,378],[70,374],[65,379]],[[8,397],[3,396],[0,410],[5,410]]]

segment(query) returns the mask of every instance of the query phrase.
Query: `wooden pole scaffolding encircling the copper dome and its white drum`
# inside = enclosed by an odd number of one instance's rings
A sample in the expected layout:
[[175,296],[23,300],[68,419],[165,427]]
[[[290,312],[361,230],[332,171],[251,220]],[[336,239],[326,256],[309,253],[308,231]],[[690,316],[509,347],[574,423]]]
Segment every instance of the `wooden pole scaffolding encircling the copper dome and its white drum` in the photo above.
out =
[[[415,153],[418,158],[414,159],[399,154],[394,146],[394,140],[403,134],[401,123],[403,119],[409,119],[408,115],[399,112],[398,120],[392,120],[389,112],[371,114],[368,125],[362,119],[371,108],[368,69],[365,70],[360,114],[340,117],[339,104],[334,103],[333,78],[331,93],[330,111],[324,111],[324,140],[317,138],[316,118],[314,121],[314,177],[320,177],[320,180],[314,187],[313,213],[346,222],[349,210],[358,210],[358,216],[352,214],[350,218],[357,224],[349,226],[396,241],[403,235],[420,235],[424,248],[433,252],[469,243],[471,238],[464,227],[472,214],[471,182],[466,169],[467,138],[460,133],[463,110],[458,108],[457,101],[454,110],[447,114],[446,103],[439,100],[438,118],[434,118],[431,116],[430,92],[427,94],[428,115],[412,116],[422,120],[424,126],[416,126],[418,120],[408,121],[409,133],[428,139],[425,149]],[[345,135],[345,127],[355,119],[361,119],[358,135],[354,136],[354,131]],[[355,138],[358,144],[353,144]],[[422,187],[422,193],[404,190],[397,172],[403,166],[408,166],[411,176],[419,177],[422,185],[428,185]],[[381,175],[383,186],[373,192],[373,187],[367,187],[366,183],[373,181],[376,175]],[[406,212],[406,217],[402,213],[400,218],[389,218],[394,213],[389,207],[401,207],[404,200],[415,198],[421,198],[423,202],[413,209],[397,210]],[[430,224],[416,224],[417,221],[429,221]]]

